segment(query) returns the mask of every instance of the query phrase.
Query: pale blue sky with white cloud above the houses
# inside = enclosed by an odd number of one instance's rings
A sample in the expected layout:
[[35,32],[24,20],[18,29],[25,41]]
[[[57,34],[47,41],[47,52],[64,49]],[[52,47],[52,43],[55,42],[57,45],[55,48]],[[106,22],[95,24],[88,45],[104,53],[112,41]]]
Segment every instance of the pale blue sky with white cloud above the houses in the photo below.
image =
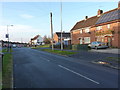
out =
[[[53,32],[61,30],[60,2],[0,2],[0,40],[29,42],[36,35],[50,36],[50,12],[53,14]],[[117,8],[118,2],[62,2],[62,31],[69,32],[85,16],[97,15]],[[11,26],[13,25],[13,26]]]

